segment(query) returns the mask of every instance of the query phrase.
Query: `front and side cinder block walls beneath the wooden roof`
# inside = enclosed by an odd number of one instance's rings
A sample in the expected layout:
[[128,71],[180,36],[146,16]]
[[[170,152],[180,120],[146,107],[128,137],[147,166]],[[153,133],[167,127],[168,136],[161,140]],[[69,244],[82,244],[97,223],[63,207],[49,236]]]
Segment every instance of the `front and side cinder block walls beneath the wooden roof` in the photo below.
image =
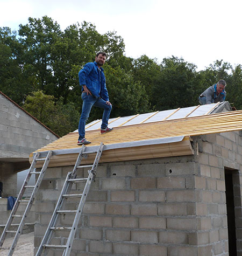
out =
[[[228,255],[224,167],[235,170],[241,253],[241,136],[234,132],[193,139],[194,156],[100,164],[72,255]],[[35,201],[35,251],[72,168],[47,170]],[[87,177],[87,170],[80,170],[78,177]],[[72,200],[68,209],[78,203]],[[65,226],[72,222],[68,215],[61,218]],[[65,244],[66,238],[66,232],[57,232],[54,240]]]

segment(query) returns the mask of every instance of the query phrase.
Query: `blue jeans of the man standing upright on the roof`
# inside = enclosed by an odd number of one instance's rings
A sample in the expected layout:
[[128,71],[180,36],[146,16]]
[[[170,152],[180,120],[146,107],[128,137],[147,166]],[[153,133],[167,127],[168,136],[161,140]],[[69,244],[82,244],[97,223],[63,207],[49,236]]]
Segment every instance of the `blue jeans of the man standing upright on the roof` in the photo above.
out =
[[95,98],[94,96],[86,92],[82,93],[82,114],[79,120],[78,132],[79,140],[85,137],[85,126],[88,120],[92,106],[103,108],[103,119],[101,124],[101,129],[105,129],[108,126],[109,116],[112,110],[111,105],[106,105],[106,101],[101,98]]

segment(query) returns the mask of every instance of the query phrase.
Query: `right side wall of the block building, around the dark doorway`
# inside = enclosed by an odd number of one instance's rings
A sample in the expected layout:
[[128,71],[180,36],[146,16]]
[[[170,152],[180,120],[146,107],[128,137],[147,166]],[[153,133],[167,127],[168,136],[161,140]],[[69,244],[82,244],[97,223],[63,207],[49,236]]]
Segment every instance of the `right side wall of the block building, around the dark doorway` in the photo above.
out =
[[[233,179],[234,215],[236,223],[237,255],[242,254],[242,132],[203,135],[194,138],[198,154],[198,177],[195,177],[200,206],[197,217],[207,222],[211,255],[228,255],[225,169]],[[209,254],[210,255],[210,254]]]

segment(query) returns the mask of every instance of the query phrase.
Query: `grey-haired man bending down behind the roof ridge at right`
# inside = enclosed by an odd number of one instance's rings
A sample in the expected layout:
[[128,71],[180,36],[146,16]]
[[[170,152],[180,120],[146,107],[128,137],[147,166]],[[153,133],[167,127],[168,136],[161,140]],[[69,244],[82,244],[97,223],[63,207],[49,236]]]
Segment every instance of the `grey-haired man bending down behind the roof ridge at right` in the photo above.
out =
[[222,102],[226,98],[226,82],[220,79],[217,84],[210,86],[198,98],[201,105]]

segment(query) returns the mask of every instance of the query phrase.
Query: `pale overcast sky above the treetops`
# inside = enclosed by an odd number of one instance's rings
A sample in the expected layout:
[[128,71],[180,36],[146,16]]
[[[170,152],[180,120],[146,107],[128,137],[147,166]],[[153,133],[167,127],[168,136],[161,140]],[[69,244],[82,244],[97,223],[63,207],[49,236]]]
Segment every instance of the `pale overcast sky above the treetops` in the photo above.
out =
[[160,63],[177,56],[203,70],[215,60],[242,64],[241,0],[0,0],[0,27],[18,30],[47,15],[62,30],[85,20],[99,33],[116,31],[125,55]]

